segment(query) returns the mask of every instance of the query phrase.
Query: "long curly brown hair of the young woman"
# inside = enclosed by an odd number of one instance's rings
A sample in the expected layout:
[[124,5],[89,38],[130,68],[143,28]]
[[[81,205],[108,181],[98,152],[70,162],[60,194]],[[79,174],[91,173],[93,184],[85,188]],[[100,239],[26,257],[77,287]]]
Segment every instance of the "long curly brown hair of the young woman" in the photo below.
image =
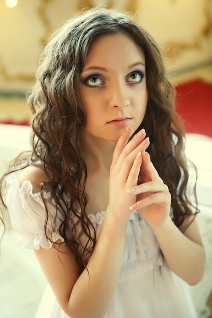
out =
[[[55,211],[59,208],[63,212],[64,221],[59,233],[83,267],[93,252],[96,236],[86,215],[86,165],[78,146],[86,117],[77,100],[77,88],[94,41],[101,35],[119,32],[129,35],[145,54],[148,102],[138,130],[144,128],[150,137],[148,152],[169,187],[173,221],[179,227],[185,217],[193,213],[187,193],[189,175],[184,155],[184,130],[175,112],[175,92],[167,80],[158,45],[127,15],[105,8],[83,12],[53,34],[41,55],[37,82],[28,97],[33,112],[33,150],[28,156],[19,155],[5,174],[29,165],[42,166],[46,176],[41,187],[46,208],[46,236],[51,240],[47,223],[50,218],[56,218],[56,212],[51,215],[45,199],[44,192],[47,191],[51,193]],[[79,228],[80,233],[76,231]],[[87,239],[83,248],[80,246],[81,235]]]

